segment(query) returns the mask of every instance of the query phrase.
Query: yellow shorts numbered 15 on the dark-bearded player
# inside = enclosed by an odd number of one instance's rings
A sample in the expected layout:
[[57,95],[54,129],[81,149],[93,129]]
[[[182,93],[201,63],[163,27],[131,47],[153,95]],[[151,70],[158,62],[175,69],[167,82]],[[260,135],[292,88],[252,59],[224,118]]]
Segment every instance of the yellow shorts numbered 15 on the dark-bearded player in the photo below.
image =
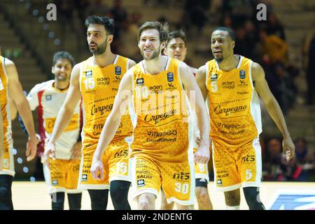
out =
[[84,153],[83,148],[78,188],[102,190],[109,189],[109,182],[111,181],[131,182],[131,165],[129,159],[131,141],[131,137],[126,137],[125,139],[111,142],[107,146],[102,156],[104,167],[104,179],[102,180],[94,180],[90,173],[94,151],[92,153]]

